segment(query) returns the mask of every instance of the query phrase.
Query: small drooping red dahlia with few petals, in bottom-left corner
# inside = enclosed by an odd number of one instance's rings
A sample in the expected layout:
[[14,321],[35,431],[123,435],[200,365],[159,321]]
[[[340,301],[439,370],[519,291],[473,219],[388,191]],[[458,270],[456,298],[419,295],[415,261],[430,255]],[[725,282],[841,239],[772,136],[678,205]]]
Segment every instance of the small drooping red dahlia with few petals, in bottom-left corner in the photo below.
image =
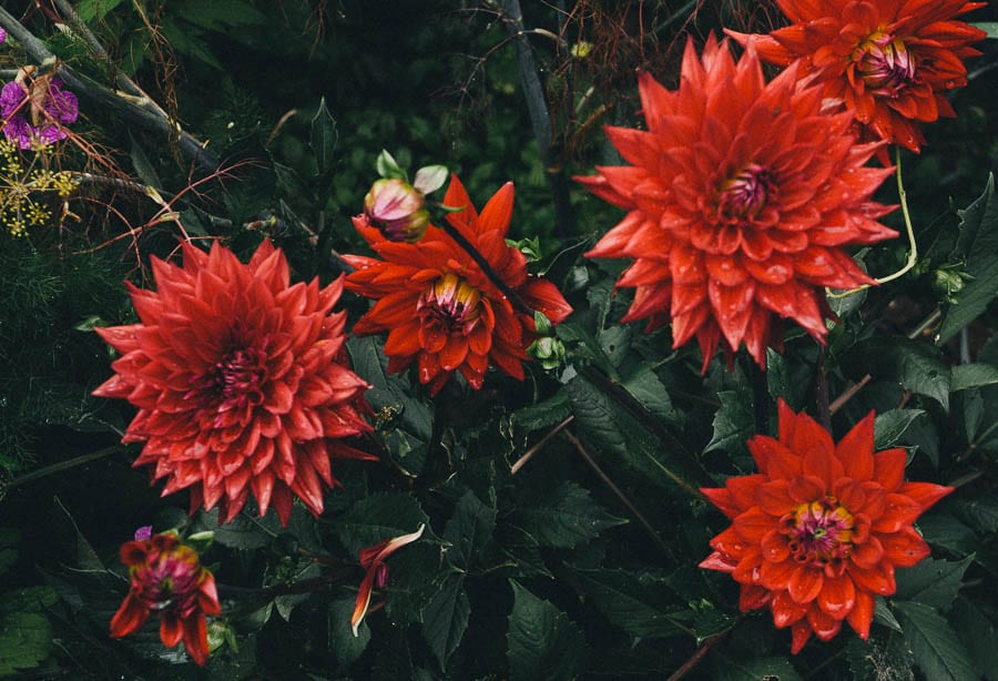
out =
[[183,640],[187,654],[204,667],[208,655],[205,616],[220,614],[215,578],[197,552],[175,535],[154,535],[121,547],[132,587],[111,619],[111,637],[142,629],[150,612],[160,618],[160,639],[167,648]]

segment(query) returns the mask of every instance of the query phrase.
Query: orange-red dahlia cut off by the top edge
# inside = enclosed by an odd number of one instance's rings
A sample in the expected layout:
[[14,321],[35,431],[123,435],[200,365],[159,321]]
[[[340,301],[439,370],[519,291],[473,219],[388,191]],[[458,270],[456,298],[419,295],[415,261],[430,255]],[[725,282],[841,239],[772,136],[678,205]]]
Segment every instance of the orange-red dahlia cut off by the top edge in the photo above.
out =
[[[969,47],[987,34],[954,21],[986,2],[967,0],[776,0],[793,23],[755,35],[760,57],[778,65],[802,60],[826,103],[855,111],[862,139],[883,139],[914,152],[920,123],[955,116],[946,92],[967,84]],[[750,35],[726,31],[742,44]]]

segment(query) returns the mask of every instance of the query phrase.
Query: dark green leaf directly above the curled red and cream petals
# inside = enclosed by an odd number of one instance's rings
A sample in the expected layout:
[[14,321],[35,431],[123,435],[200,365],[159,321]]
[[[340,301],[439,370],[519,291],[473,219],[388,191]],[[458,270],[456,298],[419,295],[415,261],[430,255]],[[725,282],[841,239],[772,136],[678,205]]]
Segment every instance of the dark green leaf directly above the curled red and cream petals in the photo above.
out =
[[357,501],[330,525],[350,556],[359,556],[363,548],[416,531],[420,522],[429,525],[419,502],[405,492],[394,491]]

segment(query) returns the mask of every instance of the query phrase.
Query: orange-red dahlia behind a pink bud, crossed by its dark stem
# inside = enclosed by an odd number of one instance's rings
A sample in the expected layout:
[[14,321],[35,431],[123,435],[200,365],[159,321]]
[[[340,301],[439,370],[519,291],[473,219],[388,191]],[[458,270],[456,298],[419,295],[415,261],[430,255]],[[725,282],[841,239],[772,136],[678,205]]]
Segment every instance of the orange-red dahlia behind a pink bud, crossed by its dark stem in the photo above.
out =
[[[479,214],[468,192],[451,176],[444,197],[460,209],[446,220],[488,262],[526,305],[554,324],[572,308],[550,282],[527,274],[523,254],[506,243],[513,185],[506,183]],[[419,382],[436,395],[455,372],[478,389],[489,363],[523,378],[521,362],[534,339],[533,317],[518,309],[475,260],[444,230],[429,225],[417,243],[389,241],[365,215],[354,226],[383,260],[344,256],[356,267],[346,287],[377,302],[354,326],[357,335],[388,332],[388,370],[418,359]]]

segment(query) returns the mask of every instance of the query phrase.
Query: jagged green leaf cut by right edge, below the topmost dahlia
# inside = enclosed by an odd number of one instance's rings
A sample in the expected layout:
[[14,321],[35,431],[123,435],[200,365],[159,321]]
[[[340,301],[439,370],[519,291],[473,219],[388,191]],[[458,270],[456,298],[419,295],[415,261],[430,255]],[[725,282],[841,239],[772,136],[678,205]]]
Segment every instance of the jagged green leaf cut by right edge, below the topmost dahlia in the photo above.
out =
[[976,319],[998,295],[998,201],[995,176],[989,175],[984,193],[964,211],[960,235],[951,255],[966,262],[974,278],[956,294],[956,303],[946,309],[936,344],[941,345]]

